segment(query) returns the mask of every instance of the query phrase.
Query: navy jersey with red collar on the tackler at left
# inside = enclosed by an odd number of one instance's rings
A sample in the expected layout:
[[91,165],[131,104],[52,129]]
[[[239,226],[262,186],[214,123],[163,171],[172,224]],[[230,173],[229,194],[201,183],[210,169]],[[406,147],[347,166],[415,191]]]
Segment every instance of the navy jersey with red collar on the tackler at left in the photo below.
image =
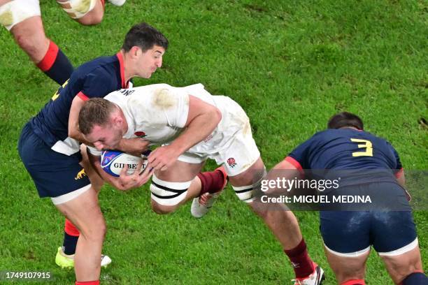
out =
[[69,138],[69,115],[73,98],[83,100],[104,97],[117,89],[127,88],[124,82],[122,54],[99,57],[79,66],[69,80],[52,96],[38,114],[31,118],[34,133],[56,152],[71,155],[79,151],[79,142]]

